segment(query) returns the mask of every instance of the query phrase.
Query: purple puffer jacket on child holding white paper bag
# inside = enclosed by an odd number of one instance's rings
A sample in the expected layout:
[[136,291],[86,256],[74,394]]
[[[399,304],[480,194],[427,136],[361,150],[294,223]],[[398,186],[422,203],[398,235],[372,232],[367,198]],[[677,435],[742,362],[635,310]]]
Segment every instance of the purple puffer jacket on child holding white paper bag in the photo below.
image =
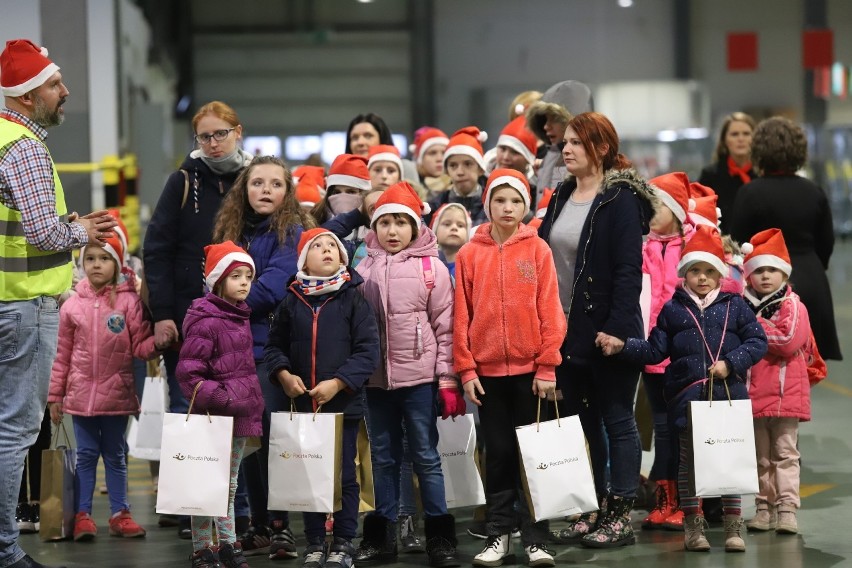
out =
[[254,366],[251,309],[215,294],[193,300],[183,320],[177,379],[192,411],[234,417],[234,436],[260,436],[263,395]]

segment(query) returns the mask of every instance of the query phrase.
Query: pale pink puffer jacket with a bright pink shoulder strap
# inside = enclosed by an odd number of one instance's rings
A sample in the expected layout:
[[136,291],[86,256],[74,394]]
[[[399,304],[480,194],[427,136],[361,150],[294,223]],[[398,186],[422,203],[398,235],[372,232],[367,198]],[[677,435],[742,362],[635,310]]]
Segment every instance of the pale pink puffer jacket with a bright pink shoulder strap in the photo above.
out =
[[[437,238],[421,227],[397,254],[367,233],[367,258],[358,264],[361,289],[376,313],[384,364],[367,386],[396,389],[429,383],[453,373],[453,283],[438,259]],[[434,288],[428,290],[422,257],[430,257]]]

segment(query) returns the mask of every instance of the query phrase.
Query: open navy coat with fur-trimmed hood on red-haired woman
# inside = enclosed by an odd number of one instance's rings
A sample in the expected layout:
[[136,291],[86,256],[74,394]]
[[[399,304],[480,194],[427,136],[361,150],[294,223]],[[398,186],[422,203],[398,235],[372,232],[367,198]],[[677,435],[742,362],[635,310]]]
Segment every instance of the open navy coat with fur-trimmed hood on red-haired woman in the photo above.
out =
[[[602,357],[595,347],[599,331],[627,339],[642,337],[642,235],[653,217],[652,190],[634,170],[611,170],[604,190],[592,202],[580,233],[577,267],[562,354],[566,361],[589,363]],[[556,186],[539,236],[550,242],[550,229],[577,189],[572,177]]]

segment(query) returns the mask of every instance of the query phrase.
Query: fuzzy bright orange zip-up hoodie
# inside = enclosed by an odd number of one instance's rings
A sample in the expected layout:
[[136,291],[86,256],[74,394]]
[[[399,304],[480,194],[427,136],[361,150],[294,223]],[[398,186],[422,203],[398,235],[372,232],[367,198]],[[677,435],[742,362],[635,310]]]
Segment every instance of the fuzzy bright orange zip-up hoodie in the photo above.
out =
[[462,383],[535,373],[556,380],[568,324],[550,247],[524,224],[503,245],[480,225],[456,257],[453,359]]

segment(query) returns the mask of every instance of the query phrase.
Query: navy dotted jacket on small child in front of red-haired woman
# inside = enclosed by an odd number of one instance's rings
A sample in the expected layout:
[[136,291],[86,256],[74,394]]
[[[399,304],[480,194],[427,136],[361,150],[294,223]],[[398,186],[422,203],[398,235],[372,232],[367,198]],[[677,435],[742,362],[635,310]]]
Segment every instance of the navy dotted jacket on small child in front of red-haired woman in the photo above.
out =
[[[713,352],[712,357],[695,320],[701,325],[707,346]],[[719,360],[728,364],[731,374],[724,381],[713,382],[713,400],[727,399],[725,382],[732,400],[747,399],[748,370],[766,354],[767,343],[754,311],[739,294],[720,292],[702,313],[689,294],[683,288],[677,288],[674,297],[663,306],[648,340],[628,339],[621,356],[643,365],[656,364],[671,357],[671,364],[666,367],[663,392],[668,402],[670,421],[679,429],[685,429],[690,401],[708,399],[707,370],[713,364],[720,342]]]

